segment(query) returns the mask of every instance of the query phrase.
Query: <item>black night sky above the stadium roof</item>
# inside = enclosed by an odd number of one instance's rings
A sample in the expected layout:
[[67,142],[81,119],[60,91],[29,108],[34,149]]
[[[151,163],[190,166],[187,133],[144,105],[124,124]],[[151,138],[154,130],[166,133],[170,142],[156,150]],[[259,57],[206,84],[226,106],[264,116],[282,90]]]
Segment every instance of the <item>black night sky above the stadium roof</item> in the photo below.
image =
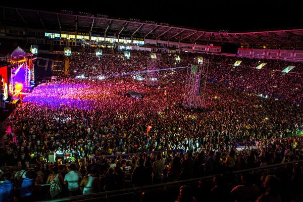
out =
[[[56,3],[59,2],[59,3]],[[68,3],[66,3],[68,2]],[[140,19],[201,30],[277,30],[303,28],[303,1],[24,1],[2,6],[89,12],[114,18]],[[81,1],[80,1],[81,2]],[[45,3],[47,5],[45,5]]]

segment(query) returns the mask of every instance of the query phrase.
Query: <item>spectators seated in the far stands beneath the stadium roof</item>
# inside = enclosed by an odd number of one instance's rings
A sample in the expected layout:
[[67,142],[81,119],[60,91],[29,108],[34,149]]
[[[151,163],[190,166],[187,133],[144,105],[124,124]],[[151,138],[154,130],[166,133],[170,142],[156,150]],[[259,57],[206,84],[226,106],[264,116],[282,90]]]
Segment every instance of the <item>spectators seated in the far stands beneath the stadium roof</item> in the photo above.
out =
[[[81,54],[73,54],[71,58],[70,73],[73,76],[112,76],[127,72],[146,70],[150,58],[149,52],[129,51],[129,59],[124,57],[124,51],[115,49],[113,55],[108,48],[104,48],[102,57],[95,56],[95,48],[84,48]],[[230,87],[235,87],[251,93],[272,96],[277,99],[290,99],[293,102],[302,102],[302,62],[291,62],[272,59],[251,59],[212,54],[197,54],[181,52],[181,61],[175,60],[175,54],[158,53],[161,59],[160,69],[172,67],[184,67],[194,63],[196,57],[204,57],[210,60],[208,68],[208,81],[220,82]],[[241,61],[239,66],[234,66],[236,61]],[[265,63],[260,70],[257,66]],[[282,70],[288,66],[294,66],[290,73]],[[184,73],[184,72],[183,72]],[[186,73],[186,72],[185,72]]]

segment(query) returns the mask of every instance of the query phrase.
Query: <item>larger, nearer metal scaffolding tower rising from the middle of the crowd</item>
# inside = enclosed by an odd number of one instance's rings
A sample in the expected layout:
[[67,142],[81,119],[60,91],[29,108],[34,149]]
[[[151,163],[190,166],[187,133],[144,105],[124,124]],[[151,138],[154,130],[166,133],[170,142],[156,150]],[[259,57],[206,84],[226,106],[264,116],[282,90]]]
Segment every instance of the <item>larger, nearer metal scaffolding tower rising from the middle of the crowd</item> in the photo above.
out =
[[188,64],[183,107],[187,109],[203,109],[205,105],[205,92],[209,59],[195,60]]

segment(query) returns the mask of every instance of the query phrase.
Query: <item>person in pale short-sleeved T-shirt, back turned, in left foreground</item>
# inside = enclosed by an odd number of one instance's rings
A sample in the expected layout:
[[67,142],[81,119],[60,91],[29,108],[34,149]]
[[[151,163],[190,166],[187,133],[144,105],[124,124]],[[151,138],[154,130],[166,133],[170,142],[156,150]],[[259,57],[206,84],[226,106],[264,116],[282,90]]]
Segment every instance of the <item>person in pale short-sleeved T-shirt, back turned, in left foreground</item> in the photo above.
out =
[[76,171],[76,165],[74,163],[72,163],[69,166],[69,169],[71,171],[65,175],[64,184],[68,184],[68,190],[70,196],[79,195],[81,194],[79,188],[81,174],[78,171]]

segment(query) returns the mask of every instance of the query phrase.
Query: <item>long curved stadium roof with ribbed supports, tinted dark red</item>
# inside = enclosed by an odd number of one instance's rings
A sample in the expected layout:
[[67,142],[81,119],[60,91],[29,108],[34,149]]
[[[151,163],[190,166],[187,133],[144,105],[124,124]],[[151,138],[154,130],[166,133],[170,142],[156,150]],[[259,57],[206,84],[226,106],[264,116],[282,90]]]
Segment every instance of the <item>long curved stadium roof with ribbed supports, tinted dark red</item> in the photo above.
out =
[[264,44],[303,46],[303,29],[214,32],[172,26],[169,24],[93,16],[90,14],[57,13],[30,9],[0,7],[0,26],[24,27],[48,31],[120,34],[158,40],[202,44]]

